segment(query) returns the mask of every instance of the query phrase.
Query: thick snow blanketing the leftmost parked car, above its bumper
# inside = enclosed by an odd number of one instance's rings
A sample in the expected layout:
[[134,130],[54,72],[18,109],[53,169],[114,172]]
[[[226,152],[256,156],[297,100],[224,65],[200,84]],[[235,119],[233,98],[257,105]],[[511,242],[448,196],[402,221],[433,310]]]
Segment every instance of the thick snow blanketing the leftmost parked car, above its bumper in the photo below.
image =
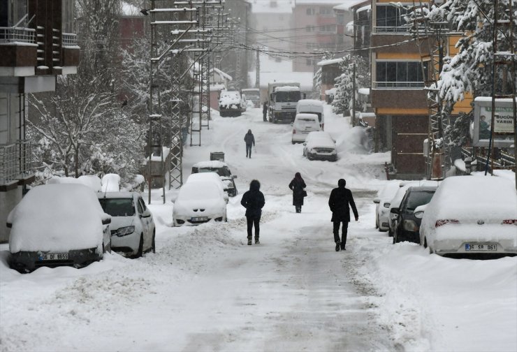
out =
[[103,212],[95,192],[82,184],[36,186],[10,212],[9,249],[68,252],[102,243]]

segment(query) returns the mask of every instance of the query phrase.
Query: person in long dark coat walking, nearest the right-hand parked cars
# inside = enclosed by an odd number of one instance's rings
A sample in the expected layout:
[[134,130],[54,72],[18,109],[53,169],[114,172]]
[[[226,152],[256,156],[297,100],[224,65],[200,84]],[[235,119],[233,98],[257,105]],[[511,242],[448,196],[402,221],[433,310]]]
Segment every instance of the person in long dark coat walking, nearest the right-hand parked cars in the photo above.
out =
[[[332,212],[333,231],[334,231],[334,242],[335,250],[345,250],[345,244],[347,244],[347,230],[348,223],[350,222],[350,207],[354,212],[356,221],[359,219],[357,212],[356,203],[354,197],[349,189],[344,188],[347,182],[344,179],[337,181],[337,188],[330,192],[330,198],[328,198],[328,206]],[[340,223],[343,223],[342,238],[340,240]]]

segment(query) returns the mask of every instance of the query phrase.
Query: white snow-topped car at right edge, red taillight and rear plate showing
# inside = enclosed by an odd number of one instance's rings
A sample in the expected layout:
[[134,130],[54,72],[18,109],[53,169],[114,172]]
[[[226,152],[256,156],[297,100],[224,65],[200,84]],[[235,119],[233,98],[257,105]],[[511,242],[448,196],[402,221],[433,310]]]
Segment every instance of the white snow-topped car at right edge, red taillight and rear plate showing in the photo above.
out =
[[425,207],[420,244],[440,256],[516,256],[514,182],[493,176],[447,177]]

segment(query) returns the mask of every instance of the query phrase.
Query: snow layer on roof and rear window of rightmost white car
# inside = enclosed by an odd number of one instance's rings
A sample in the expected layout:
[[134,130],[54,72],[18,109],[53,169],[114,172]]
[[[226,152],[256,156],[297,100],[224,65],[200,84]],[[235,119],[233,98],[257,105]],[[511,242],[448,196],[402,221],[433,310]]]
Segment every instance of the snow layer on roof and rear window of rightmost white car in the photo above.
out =
[[425,212],[434,213],[437,219],[487,219],[495,214],[501,220],[517,219],[515,185],[495,176],[447,177]]

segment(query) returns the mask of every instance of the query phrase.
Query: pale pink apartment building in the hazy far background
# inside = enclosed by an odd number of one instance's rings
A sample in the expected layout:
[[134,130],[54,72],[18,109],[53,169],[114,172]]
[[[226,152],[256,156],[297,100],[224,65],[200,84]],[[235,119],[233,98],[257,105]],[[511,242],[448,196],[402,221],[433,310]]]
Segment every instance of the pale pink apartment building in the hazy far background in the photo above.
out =
[[333,8],[344,2],[346,0],[295,0],[291,51],[300,54],[296,54],[293,61],[293,71],[313,72],[323,54],[311,57],[311,53],[338,50],[337,18]]

